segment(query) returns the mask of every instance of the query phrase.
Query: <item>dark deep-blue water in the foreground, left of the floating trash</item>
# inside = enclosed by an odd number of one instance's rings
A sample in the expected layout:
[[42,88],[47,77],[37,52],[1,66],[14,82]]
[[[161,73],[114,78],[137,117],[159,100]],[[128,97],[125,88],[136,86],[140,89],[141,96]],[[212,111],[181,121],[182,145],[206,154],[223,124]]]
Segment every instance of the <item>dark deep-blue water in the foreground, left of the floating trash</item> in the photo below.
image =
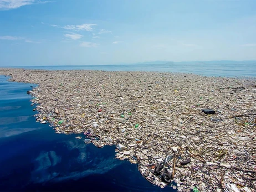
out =
[[[35,122],[32,84],[0,76],[0,191],[159,191],[137,165]],[[162,191],[170,191],[169,186]]]

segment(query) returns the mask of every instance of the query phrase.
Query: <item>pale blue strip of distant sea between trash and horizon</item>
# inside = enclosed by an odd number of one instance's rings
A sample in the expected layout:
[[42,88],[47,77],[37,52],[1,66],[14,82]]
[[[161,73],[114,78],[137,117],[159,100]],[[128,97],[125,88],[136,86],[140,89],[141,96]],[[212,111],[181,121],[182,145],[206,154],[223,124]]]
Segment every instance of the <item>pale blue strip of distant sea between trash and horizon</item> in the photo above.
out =
[[[21,66],[18,66],[21,68]],[[131,65],[23,66],[25,69],[186,72],[204,76],[255,77],[255,63],[158,63]]]

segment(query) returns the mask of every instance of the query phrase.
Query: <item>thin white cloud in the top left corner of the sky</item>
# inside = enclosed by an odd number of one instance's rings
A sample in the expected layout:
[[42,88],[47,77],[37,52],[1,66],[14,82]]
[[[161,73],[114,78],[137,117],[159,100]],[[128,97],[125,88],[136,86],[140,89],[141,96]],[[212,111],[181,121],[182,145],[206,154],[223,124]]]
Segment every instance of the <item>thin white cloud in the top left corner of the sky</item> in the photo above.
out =
[[40,0],[0,0],[0,11],[17,9],[22,6],[39,3],[53,3],[53,1]]

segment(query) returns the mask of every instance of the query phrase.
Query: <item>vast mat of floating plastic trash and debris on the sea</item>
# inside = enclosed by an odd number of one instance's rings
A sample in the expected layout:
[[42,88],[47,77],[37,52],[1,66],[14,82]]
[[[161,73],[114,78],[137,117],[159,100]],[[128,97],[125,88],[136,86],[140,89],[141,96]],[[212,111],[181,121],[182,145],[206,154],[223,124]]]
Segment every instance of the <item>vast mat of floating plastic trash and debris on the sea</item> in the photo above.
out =
[[254,191],[255,79],[7,68],[0,74],[40,85],[27,90],[38,103],[35,121],[47,118],[57,133],[84,133],[84,142],[99,148],[115,145],[116,158],[137,163],[154,185]]

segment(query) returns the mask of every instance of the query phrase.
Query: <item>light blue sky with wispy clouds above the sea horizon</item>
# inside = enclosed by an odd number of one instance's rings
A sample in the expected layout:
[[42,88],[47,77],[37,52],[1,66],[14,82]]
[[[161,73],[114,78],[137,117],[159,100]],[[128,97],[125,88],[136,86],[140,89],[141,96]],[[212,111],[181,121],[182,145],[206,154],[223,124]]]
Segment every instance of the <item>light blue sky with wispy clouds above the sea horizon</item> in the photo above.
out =
[[0,0],[0,66],[256,60],[255,0]]

